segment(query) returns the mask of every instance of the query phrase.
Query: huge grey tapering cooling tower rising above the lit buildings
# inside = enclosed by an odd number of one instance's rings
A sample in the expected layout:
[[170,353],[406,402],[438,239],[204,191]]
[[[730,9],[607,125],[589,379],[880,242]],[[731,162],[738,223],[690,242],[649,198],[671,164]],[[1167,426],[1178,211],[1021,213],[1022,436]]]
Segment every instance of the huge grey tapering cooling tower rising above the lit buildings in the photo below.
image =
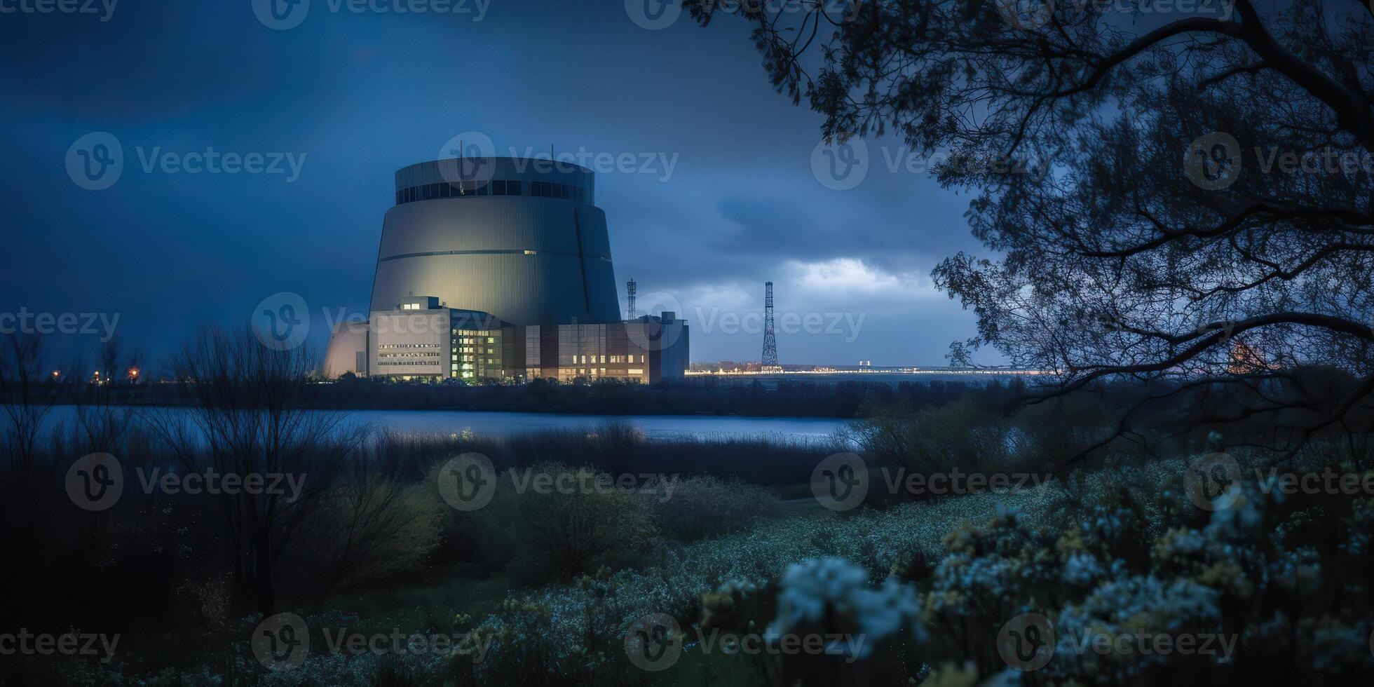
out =
[[620,322],[592,172],[525,158],[440,159],[398,170],[370,309],[394,309],[409,295],[510,324]]

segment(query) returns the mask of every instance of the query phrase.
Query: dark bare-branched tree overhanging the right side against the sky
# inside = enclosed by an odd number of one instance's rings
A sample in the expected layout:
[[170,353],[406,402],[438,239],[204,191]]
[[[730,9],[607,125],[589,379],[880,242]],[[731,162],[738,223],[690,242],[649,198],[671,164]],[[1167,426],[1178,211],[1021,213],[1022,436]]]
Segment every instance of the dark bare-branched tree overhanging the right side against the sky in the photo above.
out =
[[[890,131],[949,154],[933,173],[974,191],[966,217],[995,253],[933,272],[978,317],[956,363],[993,346],[1051,371],[1032,403],[1162,378],[1171,396],[1230,394],[1216,412],[1180,404],[1191,420],[1370,429],[1363,3],[687,7],[702,25],[752,22],[774,85],[824,114],[827,139]],[[1311,367],[1341,375],[1315,382]]]

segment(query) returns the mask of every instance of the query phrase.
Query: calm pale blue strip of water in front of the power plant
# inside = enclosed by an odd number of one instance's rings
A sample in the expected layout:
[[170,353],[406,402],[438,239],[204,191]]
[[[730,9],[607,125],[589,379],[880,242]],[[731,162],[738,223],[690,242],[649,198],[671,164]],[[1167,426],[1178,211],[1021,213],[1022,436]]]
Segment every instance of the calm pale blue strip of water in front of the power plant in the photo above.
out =
[[[70,422],[74,409],[59,405],[48,423]],[[481,411],[346,411],[349,420],[374,427],[420,434],[459,434],[508,437],[547,429],[596,427],[624,422],[639,427],[649,438],[698,437],[772,437],[789,441],[827,438],[848,420],[835,418],[741,418],[721,415],[555,415],[541,412]]]

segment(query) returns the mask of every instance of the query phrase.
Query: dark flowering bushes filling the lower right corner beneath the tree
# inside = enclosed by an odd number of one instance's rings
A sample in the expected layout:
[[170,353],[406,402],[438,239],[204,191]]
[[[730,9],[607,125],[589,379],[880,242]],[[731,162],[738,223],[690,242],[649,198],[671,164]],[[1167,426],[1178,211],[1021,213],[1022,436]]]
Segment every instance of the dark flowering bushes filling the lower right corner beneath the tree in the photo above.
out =
[[1374,675],[1369,500],[1286,496],[1276,478],[1250,478],[1209,513],[1189,503],[1184,474],[1180,460],[1105,469],[1069,481],[1059,523],[1007,510],[952,532],[944,559],[912,576],[932,628],[923,658],[999,673],[1013,662],[999,628],[1039,613],[1057,642],[1024,683]]

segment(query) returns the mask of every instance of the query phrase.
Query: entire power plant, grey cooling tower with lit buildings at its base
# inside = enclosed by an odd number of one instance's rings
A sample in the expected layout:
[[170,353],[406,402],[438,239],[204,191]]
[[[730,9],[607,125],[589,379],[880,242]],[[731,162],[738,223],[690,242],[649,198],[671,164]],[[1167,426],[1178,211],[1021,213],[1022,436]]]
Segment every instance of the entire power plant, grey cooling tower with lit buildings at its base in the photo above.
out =
[[676,313],[621,317],[589,169],[478,157],[396,173],[370,316],[330,333],[323,372],[651,383],[687,361]]

